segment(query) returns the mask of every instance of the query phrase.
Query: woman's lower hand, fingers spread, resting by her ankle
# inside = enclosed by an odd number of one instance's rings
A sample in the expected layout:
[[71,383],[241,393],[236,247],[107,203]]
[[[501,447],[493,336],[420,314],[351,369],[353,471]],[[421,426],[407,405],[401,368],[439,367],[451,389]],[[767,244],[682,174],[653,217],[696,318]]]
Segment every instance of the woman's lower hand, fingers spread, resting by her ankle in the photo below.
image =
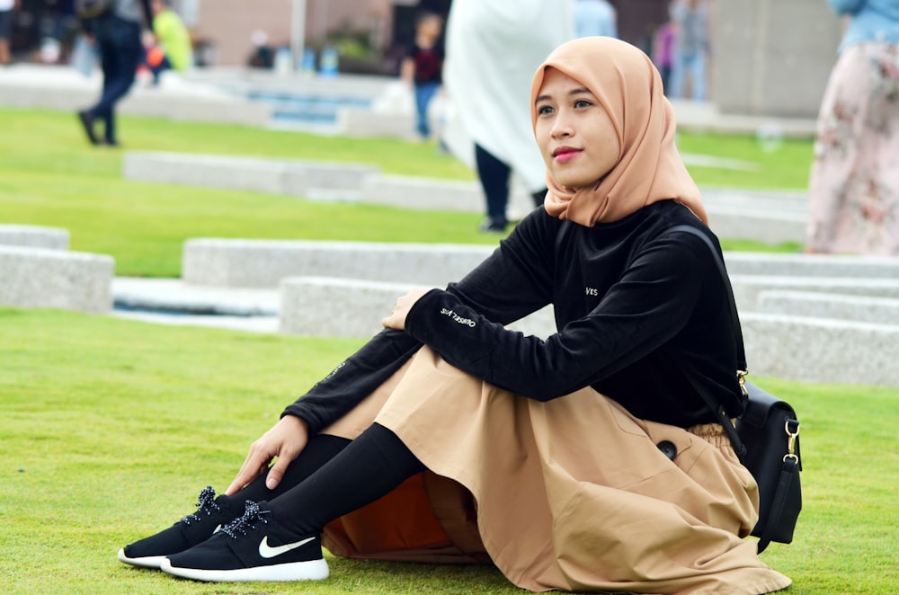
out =
[[[246,455],[244,465],[228,486],[227,495],[232,495],[250,484],[268,470],[265,486],[270,490],[280,484],[284,472],[309,441],[309,430],[306,422],[294,415],[285,415],[280,422],[265,432],[259,440],[250,445],[250,452]],[[277,457],[274,465],[269,469],[273,458]]]

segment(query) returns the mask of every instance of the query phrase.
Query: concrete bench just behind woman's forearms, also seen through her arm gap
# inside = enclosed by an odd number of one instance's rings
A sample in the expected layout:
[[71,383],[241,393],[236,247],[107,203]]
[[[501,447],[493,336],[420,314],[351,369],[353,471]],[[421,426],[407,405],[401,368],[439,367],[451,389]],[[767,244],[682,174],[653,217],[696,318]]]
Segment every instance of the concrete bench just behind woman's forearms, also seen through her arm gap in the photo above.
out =
[[[396,298],[413,286],[384,281],[291,277],[280,283],[280,332],[314,336],[370,337],[381,330]],[[551,306],[509,328],[546,337],[555,332]]]

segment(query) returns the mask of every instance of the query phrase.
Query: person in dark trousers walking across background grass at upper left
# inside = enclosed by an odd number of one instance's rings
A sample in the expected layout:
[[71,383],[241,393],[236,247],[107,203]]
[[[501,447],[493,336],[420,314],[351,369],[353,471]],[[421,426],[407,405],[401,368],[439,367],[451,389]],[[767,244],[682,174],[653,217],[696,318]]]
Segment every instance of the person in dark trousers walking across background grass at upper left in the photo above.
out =
[[[100,100],[93,107],[78,111],[78,120],[92,145],[117,147],[115,106],[134,84],[144,54],[141,31],[149,30],[153,22],[150,0],[114,0],[103,13],[78,16],[85,33],[100,49],[103,73]],[[94,129],[96,120],[103,122],[102,138]]]

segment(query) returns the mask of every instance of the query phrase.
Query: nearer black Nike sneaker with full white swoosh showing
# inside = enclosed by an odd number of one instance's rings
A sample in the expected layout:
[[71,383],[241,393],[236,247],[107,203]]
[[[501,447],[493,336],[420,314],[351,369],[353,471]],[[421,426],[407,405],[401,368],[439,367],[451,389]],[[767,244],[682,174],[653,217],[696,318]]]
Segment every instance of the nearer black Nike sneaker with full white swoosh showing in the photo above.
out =
[[297,536],[271,514],[266,502],[247,501],[233,520],[199,546],[170,555],[160,569],[194,581],[320,581],[328,564],[317,535]]

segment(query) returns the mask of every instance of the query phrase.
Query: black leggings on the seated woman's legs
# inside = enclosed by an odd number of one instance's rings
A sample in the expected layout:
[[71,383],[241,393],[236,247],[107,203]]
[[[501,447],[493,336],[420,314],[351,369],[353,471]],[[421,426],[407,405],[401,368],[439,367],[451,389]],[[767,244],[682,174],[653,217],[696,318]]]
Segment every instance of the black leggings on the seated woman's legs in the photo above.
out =
[[[425,470],[392,431],[377,423],[356,440],[316,435],[294,459],[274,490],[264,475],[232,496],[268,501],[275,518],[297,535],[317,535],[325,525],[355,511]],[[236,510],[239,514],[239,510]]]

